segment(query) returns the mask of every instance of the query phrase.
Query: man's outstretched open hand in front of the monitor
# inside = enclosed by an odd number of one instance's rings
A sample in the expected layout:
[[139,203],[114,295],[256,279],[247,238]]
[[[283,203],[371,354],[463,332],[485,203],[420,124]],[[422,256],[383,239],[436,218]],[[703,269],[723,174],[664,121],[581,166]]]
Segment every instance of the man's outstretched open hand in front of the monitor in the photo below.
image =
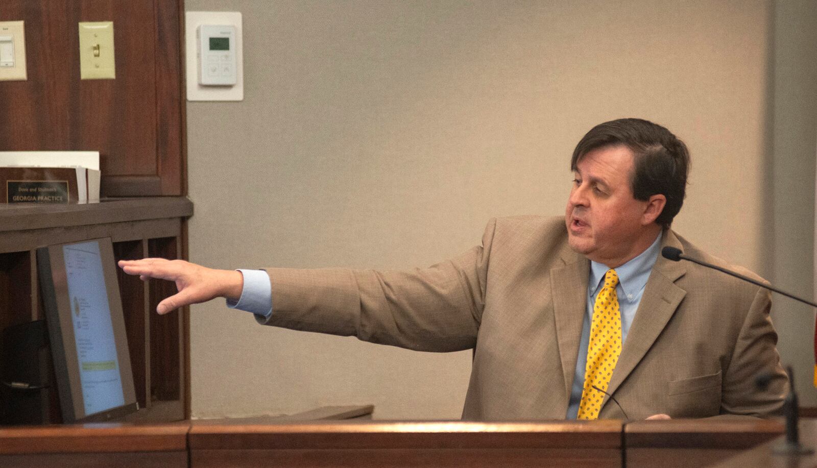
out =
[[118,265],[127,274],[139,275],[142,281],[157,278],[176,283],[178,292],[158,303],[159,314],[220,296],[238,299],[243,288],[243,275],[239,271],[213,270],[183,260],[144,258],[120,260]]

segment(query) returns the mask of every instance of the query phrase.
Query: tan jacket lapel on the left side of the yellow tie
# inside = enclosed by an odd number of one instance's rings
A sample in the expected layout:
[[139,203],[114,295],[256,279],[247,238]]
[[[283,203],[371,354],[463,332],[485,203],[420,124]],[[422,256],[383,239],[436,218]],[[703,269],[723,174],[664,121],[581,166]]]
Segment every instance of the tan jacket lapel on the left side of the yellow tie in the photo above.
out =
[[561,252],[565,265],[551,270],[553,315],[556,319],[556,340],[565,377],[565,394],[570,394],[576,373],[578,344],[582,338],[582,323],[587,307],[587,281],[590,261],[565,245]]

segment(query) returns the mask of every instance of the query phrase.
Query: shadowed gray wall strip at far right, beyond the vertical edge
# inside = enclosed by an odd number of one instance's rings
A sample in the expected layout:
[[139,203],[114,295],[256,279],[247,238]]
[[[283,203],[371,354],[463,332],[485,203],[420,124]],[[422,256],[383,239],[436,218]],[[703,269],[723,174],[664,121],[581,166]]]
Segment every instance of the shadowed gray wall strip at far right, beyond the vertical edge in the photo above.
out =
[[[817,155],[817,2],[775,2],[772,76],[767,106],[769,171],[762,274],[788,291],[814,289],[815,155]],[[795,369],[803,406],[817,406],[814,311],[775,295],[778,350]]]

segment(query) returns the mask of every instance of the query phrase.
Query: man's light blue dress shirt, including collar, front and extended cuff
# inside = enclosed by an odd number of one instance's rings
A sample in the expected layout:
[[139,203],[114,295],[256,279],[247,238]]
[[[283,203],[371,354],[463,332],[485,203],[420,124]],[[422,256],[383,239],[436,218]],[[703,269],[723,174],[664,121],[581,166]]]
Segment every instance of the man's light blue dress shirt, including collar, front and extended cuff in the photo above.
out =
[[[615,291],[618,295],[618,305],[621,310],[621,337],[623,341],[622,349],[627,345],[627,332],[630,331],[632,319],[636,316],[636,310],[641,302],[644,287],[653,265],[659,257],[659,247],[661,245],[661,235],[641,252],[639,256],[628,261],[624,265],[615,269],[618,274],[618,286]],[[600,291],[601,282],[605,279],[605,274],[609,268],[606,265],[590,262],[590,279],[587,283],[587,308],[584,314],[582,325],[582,340],[578,345],[578,359],[576,360],[576,375],[573,380],[573,388],[570,391],[570,400],[567,408],[567,419],[576,419],[578,414],[578,403],[582,399],[584,387],[584,368],[587,365],[587,345],[590,343],[590,323],[593,319],[593,305],[596,303],[596,295]],[[241,291],[239,301],[227,300],[230,309],[245,310],[252,314],[270,318],[272,315],[272,291],[270,287],[270,275],[264,270],[239,270],[243,274],[244,286]]]

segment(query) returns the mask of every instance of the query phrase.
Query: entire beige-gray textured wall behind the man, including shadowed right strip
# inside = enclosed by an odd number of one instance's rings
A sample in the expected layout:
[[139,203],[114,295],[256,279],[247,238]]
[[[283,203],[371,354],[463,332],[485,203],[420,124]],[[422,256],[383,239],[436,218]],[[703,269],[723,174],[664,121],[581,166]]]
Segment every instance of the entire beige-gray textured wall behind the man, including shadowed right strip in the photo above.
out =
[[[192,261],[431,265],[492,216],[564,212],[578,139],[638,116],[692,151],[676,230],[810,293],[814,3],[185,3],[243,12],[245,64],[243,102],[188,103]],[[788,343],[811,315],[779,304],[780,349],[808,384],[810,337]],[[194,417],[462,409],[467,352],[261,327],[221,301],[194,306],[190,327]]]

